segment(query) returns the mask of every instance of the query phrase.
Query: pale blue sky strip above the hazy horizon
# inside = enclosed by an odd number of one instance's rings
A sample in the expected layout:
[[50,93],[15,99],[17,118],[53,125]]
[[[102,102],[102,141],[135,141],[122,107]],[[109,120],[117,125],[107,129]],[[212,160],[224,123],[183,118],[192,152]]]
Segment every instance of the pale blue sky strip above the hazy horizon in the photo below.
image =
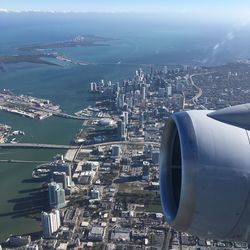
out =
[[0,0],[0,11],[125,12],[249,18],[249,0]]

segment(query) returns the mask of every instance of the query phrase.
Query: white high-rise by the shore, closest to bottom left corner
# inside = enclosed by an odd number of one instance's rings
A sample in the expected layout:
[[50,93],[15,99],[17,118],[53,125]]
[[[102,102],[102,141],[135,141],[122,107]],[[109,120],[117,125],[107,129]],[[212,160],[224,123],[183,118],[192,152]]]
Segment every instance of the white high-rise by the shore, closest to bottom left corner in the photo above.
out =
[[51,213],[42,212],[41,221],[43,237],[51,238],[61,225],[59,210],[53,210]]

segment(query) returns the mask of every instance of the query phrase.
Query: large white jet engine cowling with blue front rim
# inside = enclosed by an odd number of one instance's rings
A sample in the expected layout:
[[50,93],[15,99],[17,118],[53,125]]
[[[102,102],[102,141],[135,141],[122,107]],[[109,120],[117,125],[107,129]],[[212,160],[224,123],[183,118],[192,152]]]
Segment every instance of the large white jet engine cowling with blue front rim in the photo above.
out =
[[177,231],[250,241],[250,133],[208,114],[179,112],[166,123],[162,208]]

